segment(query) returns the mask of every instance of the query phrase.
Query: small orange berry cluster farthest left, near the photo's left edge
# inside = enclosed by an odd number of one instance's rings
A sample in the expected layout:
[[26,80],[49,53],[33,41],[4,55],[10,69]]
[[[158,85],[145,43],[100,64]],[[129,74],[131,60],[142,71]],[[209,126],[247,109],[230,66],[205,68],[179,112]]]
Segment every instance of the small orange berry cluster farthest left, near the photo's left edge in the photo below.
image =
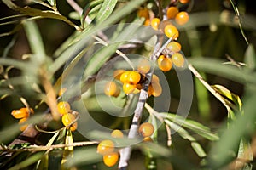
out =
[[[32,108],[28,109],[26,107],[22,107],[19,110],[13,110],[11,112],[11,115],[14,116],[16,119],[20,119],[19,124],[23,124],[26,122],[28,117],[33,113],[34,111],[32,110]],[[20,126],[20,131],[24,131],[27,126],[28,124]]]

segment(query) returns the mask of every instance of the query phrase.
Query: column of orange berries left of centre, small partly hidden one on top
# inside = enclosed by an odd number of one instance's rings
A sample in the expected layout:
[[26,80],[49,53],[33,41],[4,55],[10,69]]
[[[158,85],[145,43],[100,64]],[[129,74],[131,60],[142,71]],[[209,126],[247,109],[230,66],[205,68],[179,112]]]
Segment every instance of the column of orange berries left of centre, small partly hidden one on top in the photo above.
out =
[[[61,88],[58,95],[61,96],[67,88]],[[60,101],[57,105],[57,109],[61,114],[61,122],[65,127],[68,127],[71,131],[75,131],[78,127],[78,122],[76,121],[76,115],[73,114],[71,106],[67,101]]]

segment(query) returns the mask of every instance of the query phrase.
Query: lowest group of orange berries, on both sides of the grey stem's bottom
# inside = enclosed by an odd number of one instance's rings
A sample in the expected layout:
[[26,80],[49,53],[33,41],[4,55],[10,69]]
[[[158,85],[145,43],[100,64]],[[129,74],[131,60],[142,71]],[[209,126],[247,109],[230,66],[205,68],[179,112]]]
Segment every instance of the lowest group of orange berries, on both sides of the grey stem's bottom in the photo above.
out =
[[[138,133],[144,137],[143,141],[152,141],[150,136],[154,133],[154,126],[145,122],[140,125]],[[122,139],[124,134],[120,130],[113,130],[111,137]],[[110,139],[102,140],[97,146],[97,152],[103,156],[103,162],[108,167],[113,167],[119,161],[119,150],[115,148],[115,142]]]

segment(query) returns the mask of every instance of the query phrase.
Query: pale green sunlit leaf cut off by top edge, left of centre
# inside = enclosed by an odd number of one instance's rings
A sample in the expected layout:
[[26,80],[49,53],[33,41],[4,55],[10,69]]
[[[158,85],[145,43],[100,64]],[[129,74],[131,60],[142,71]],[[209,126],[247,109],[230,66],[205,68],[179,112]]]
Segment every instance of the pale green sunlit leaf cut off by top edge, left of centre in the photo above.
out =
[[105,0],[102,3],[102,8],[99,13],[96,15],[96,23],[100,24],[102,21],[106,20],[110,14],[113,12],[113,8],[115,7],[117,0]]

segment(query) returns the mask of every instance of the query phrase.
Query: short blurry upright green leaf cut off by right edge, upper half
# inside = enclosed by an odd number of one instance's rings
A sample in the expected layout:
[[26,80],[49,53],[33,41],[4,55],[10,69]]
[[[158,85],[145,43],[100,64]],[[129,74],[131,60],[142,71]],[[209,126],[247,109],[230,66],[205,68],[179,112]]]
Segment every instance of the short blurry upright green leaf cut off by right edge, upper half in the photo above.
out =
[[244,56],[244,62],[247,65],[247,68],[250,70],[255,70],[256,68],[256,54],[253,48],[253,44],[249,44]]

